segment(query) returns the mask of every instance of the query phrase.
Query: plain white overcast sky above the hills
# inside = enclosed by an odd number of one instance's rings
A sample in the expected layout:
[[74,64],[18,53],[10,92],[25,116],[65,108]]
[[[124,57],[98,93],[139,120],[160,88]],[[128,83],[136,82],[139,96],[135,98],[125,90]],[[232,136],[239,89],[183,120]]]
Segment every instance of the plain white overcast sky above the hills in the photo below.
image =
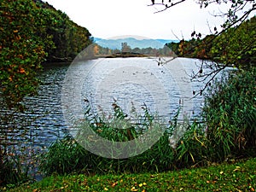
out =
[[[156,0],[155,0],[156,1]],[[95,38],[113,38],[137,35],[145,38],[190,38],[191,32],[209,34],[207,22],[220,26],[223,19],[212,14],[225,10],[225,5],[211,4],[200,9],[194,0],[188,0],[154,14],[157,7],[148,7],[150,0],[44,0],[61,9],[71,20],[86,27]],[[160,9],[160,7],[158,8]],[[173,33],[175,35],[173,35]]]

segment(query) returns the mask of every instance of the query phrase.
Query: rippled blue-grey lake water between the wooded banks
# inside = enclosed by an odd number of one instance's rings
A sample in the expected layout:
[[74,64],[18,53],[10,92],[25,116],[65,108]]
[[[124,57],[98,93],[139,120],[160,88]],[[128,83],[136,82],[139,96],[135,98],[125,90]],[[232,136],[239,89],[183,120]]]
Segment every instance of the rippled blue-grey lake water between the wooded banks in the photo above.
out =
[[[106,58],[44,65],[38,96],[24,101],[26,113],[1,120],[1,143],[8,138],[14,143],[24,140],[21,145],[30,145],[33,151],[47,148],[68,134],[64,116],[82,118],[88,103],[95,113],[111,113],[113,102],[125,113],[132,106],[142,113],[145,104],[166,123],[183,106],[182,115],[199,118],[203,97],[191,98],[202,84],[189,82],[188,74],[198,71],[196,63],[200,61],[178,58],[160,66],[158,62],[154,58]],[[11,112],[1,108],[0,113]]]

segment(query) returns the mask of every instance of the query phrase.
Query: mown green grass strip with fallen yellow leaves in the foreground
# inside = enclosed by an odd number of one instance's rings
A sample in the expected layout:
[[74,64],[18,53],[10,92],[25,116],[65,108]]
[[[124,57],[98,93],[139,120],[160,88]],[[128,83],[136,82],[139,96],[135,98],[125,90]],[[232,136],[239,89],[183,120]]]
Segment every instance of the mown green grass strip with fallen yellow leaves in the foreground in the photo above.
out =
[[174,172],[46,177],[3,191],[254,191],[256,159]]

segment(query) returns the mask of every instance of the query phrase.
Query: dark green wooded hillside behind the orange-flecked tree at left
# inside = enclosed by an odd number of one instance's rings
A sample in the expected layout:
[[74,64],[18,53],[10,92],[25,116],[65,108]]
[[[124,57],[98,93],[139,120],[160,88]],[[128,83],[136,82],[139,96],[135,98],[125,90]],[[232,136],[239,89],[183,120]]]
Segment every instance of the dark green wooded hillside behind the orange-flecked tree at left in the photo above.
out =
[[[81,50],[92,43],[90,32],[70,20],[69,17],[56,10],[49,3],[41,0],[33,0],[38,9],[46,16],[47,24],[45,32],[47,38],[52,40],[53,46],[49,46],[48,61],[71,61]],[[39,34],[40,36],[40,34]],[[44,38],[44,34],[43,37]]]

